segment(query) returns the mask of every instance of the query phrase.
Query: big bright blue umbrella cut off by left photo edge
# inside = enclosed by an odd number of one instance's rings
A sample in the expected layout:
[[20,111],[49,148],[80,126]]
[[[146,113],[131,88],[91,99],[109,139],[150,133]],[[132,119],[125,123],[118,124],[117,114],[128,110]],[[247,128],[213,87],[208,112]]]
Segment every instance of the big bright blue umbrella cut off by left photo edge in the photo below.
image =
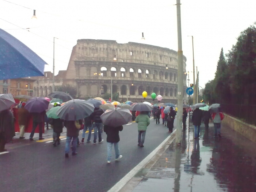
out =
[[0,79],[44,76],[45,64],[26,45],[0,29]]

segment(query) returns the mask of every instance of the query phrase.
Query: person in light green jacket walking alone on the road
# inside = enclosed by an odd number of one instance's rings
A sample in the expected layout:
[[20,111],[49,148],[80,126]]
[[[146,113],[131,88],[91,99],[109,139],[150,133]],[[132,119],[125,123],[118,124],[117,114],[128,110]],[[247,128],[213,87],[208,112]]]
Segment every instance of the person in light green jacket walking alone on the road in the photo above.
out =
[[138,146],[144,147],[145,135],[147,131],[147,127],[150,124],[150,119],[148,117],[147,111],[142,111],[140,115],[138,115],[135,119],[135,122],[138,123]]

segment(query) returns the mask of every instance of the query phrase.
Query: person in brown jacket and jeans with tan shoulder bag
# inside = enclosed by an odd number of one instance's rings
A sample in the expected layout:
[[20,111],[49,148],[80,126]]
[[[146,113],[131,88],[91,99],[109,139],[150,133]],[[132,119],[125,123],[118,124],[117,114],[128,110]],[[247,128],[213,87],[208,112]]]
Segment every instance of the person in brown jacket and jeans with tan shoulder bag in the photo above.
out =
[[[78,127],[76,124],[79,124]],[[66,139],[66,146],[65,146],[65,157],[69,157],[69,150],[70,150],[70,142],[73,139],[74,142],[77,142],[77,138],[79,136],[79,129],[83,124],[82,120],[78,121],[64,121],[64,126],[67,128],[67,139]],[[76,145],[72,147],[72,155],[76,155]]]

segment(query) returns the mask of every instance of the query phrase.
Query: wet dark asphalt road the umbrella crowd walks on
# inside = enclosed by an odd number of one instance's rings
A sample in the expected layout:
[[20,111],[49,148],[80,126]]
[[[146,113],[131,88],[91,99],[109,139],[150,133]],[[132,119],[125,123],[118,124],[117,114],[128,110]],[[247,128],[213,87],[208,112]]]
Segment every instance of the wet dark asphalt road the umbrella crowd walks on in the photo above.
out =
[[[0,191],[106,192],[169,136],[168,128],[156,125],[153,119],[146,132],[144,148],[137,146],[137,134],[137,123],[124,125],[119,134],[123,158],[119,162],[112,160],[111,164],[107,164],[105,133],[103,143],[82,143],[77,148],[79,154],[69,158],[64,157],[66,140],[57,147],[29,140],[8,144],[9,153],[0,155]],[[79,139],[81,141],[81,133]]]

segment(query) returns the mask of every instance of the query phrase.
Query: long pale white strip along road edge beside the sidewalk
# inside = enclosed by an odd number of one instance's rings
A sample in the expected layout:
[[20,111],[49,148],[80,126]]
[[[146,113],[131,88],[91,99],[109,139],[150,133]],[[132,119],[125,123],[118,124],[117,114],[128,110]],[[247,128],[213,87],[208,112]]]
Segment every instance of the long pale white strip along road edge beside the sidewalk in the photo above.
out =
[[145,166],[146,163],[148,163],[149,160],[151,160],[152,157],[154,157],[155,154],[160,150],[160,148],[163,147],[167,143],[167,141],[172,137],[173,134],[175,134],[176,129],[170,134],[160,145],[158,145],[157,148],[155,148],[154,151],[152,151],[145,159],[143,159],[137,166],[134,167],[130,172],[128,172],[125,177],[123,177],[121,180],[119,180],[111,189],[108,190],[108,192],[119,192],[120,189],[125,186],[126,183],[128,183],[129,180],[131,180],[134,175],[137,174],[137,172],[140,171],[140,169]]

